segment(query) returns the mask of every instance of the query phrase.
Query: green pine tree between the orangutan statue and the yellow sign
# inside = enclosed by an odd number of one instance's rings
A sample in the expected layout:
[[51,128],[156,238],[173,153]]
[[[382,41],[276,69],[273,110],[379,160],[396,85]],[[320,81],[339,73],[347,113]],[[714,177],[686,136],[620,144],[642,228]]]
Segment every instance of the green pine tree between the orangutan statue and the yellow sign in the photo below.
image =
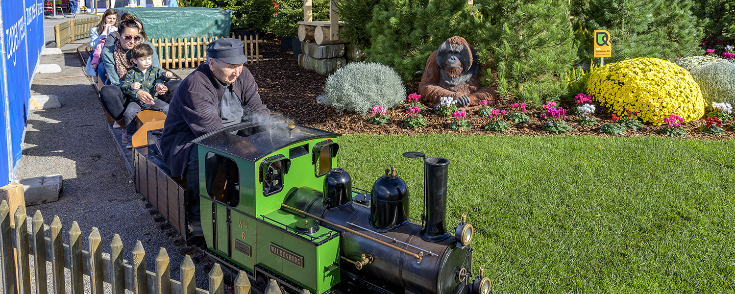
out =
[[568,1],[475,3],[480,15],[470,24],[473,41],[481,62],[487,56],[495,62],[498,92],[536,104],[564,96],[564,73],[577,60]]

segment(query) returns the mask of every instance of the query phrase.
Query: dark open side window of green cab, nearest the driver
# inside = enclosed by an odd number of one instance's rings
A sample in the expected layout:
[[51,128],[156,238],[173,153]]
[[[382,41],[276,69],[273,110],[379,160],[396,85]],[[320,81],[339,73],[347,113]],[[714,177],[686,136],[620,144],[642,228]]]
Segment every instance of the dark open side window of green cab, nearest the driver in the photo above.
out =
[[237,207],[240,203],[240,172],[237,163],[228,157],[207,153],[204,170],[207,175],[207,194],[210,198]]

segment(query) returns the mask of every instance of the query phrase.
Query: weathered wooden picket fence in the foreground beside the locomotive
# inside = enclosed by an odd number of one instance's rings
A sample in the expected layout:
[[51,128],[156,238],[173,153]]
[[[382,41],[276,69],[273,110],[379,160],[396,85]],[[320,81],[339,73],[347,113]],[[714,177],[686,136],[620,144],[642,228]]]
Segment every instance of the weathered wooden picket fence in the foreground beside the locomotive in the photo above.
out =
[[[110,258],[102,257],[101,237],[96,227],[89,234],[89,251],[82,250],[82,232],[75,222],[68,230],[69,244],[62,243],[61,221],[54,216],[51,222],[51,237],[43,236],[43,216],[36,210],[32,218],[32,232],[28,232],[26,209],[15,210],[14,225],[11,223],[7,201],[0,203],[0,270],[2,270],[3,293],[31,294],[30,257],[34,258],[35,293],[49,293],[47,289],[46,261],[51,262],[53,293],[65,293],[64,268],[71,273],[71,293],[103,293],[103,282],[110,283],[112,294],[124,294],[125,290],[142,294],[223,294],[223,273],[215,263],[209,271],[209,290],[196,287],[194,262],[184,257],[179,273],[181,282],[171,279],[168,253],[160,248],[156,256],[156,272],[146,270],[146,251],[140,240],[132,251],[132,264],[123,262],[123,243],[118,234],[110,242]],[[15,254],[13,253],[15,251]],[[41,269],[41,270],[39,270]],[[84,276],[90,277],[90,288],[84,287]],[[250,293],[250,280],[240,270],[234,281],[235,294]]]

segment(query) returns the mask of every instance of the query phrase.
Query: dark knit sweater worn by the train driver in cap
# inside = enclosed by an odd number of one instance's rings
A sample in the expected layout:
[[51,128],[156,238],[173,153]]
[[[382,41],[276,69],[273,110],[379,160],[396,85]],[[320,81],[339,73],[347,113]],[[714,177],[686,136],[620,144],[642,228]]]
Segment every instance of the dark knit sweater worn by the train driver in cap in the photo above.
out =
[[[221,129],[219,107],[227,90],[202,63],[182,81],[168,107],[160,140],[163,161],[171,169],[171,176],[182,176],[186,171],[191,141],[201,135]],[[243,103],[244,116],[254,120],[267,119],[270,110],[260,100],[258,86],[248,68],[232,83],[232,90]]]

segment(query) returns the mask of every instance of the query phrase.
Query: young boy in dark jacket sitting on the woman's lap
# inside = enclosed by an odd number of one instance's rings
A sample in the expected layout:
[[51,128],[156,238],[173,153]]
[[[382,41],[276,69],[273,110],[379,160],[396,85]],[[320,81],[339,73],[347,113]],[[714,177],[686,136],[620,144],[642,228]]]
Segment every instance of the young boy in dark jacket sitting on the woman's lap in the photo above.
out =
[[130,54],[135,68],[128,71],[123,80],[121,90],[132,101],[125,109],[125,125],[128,137],[127,148],[132,148],[132,137],[137,131],[135,115],[141,110],[157,110],[168,114],[168,103],[157,98],[158,94],[165,94],[168,88],[163,85],[173,76],[171,71],[151,66],[153,49],[146,43],[133,47]]

